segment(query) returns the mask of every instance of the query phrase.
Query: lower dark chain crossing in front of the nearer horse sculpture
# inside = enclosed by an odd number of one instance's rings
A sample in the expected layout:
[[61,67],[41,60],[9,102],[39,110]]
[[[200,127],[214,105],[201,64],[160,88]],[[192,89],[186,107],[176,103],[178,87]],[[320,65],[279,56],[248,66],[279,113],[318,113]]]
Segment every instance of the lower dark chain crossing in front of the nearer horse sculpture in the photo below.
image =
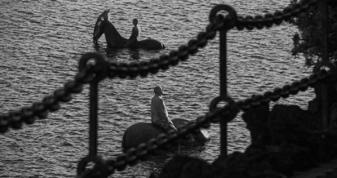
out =
[[[190,133],[197,134],[200,132],[200,127],[205,129],[210,127],[210,123],[217,123],[220,119],[225,119],[226,122],[231,121],[228,119],[229,115],[238,112],[238,109],[247,111],[252,107],[257,107],[261,104],[267,104],[270,101],[277,101],[281,97],[287,98],[290,94],[296,95],[299,91],[305,91],[308,87],[313,87],[318,82],[324,80],[335,80],[336,75],[333,73],[333,69],[329,72],[325,70],[319,70],[313,73],[309,78],[302,78],[299,81],[293,82],[291,85],[284,85],[282,88],[275,88],[273,91],[267,91],[263,95],[253,95],[244,101],[235,102],[232,105],[226,105],[221,108],[216,108],[205,114],[205,116],[198,117],[194,122],[188,123],[186,126],[178,127],[177,130],[170,130],[167,134],[162,133],[157,138],[152,138],[147,143],[141,143],[136,148],[129,148],[126,153],[120,153],[116,160],[106,161],[108,168],[108,175],[113,174],[115,169],[122,171],[127,165],[134,165],[138,160],[145,160],[148,154],[156,154],[157,149],[167,149],[172,144],[177,143],[179,139],[188,139]],[[99,171],[90,170],[90,173],[96,172],[99,175]],[[87,174],[83,174],[78,178],[86,177]]]

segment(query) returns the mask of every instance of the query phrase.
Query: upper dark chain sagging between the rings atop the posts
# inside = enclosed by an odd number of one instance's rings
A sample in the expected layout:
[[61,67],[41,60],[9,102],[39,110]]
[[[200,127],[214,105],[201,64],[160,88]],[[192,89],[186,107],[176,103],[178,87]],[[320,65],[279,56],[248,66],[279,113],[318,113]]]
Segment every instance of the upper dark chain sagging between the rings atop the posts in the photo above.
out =
[[[277,11],[274,15],[266,14],[264,17],[247,16],[245,18],[238,17],[236,27],[242,30],[244,27],[251,30],[254,27],[261,29],[263,26],[271,27],[273,23],[281,24],[282,20],[288,20],[291,16],[295,16],[300,12],[305,11],[310,5],[316,3],[318,0],[306,0],[302,4],[294,4],[292,8],[287,7],[283,13]],[[190,40],[187,45],[182,45],[178,50],[171,51],[169,55],[161,55],[159,59],[151,59],[149,62],[142,61],[140,63],[131,62],[116,63],[109,62],[108,76],[110,78],[120,77],[135,78],[138,75],[146,77],[148,73],[156,74],[159,69],[167,70],[170,65],[174,66],[179,63],[179,59],[184,61],[189,55],[198,52],[198,48],[206,46],[209,39],[216,36],[216,31],[223,28],[228,21],[228,17],[223,17],[221,14],[214,19],[210,19],[211,23],[207,26],[206,32],[200,32],[196,39]],[[88,65],[89,68],[90,65]],[[92,69],[85,69],[75,76],[75,80],[69,81],[64,85],[64,88],[54,91],[54,95],[45,96],[42,102],[34,102],[32,106],[23,107],[20,110],[11,111],[7,114],[0,114],[0,133],[8,130],[8,127],[20,129],[22,122],[32,124],[35,117],[43,119],[47,117],[48,111],[54,112],[59,109],[59,102],[68,102],[71,99],[71,93],[79,93],[82,91],[82,84],[89,83],[93,76],[88,72]]]

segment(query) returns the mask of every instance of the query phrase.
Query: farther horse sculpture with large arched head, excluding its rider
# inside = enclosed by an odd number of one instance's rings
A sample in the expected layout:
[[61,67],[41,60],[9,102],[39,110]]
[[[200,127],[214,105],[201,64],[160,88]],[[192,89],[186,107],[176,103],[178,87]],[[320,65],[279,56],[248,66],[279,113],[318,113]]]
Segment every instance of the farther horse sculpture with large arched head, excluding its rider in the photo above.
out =
[[[94,28],[94,43],[97,44],[99,37],[104,33],[108,46],[113,48],[124,48],[127,39],[122,37],[109,18],[110,10],[105,10],[97,19]],[[164,49],[165,45],[154,39],[140,40],[131,45],[133,49],[159,50]]]

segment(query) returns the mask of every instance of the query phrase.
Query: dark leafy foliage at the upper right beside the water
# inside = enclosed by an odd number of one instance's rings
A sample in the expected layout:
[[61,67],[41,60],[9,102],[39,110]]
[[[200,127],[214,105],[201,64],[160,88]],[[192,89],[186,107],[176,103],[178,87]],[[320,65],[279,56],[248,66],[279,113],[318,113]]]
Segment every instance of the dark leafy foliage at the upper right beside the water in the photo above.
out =
[[[291,3],[304,0],[293,0]],[[307,12],[293,17],[289,22],[298,27],[299,33],[293,37],[294,48],[292,54],[296,57],[303,54],[307,66],[321,61],[321,39],[322,39],[322,16],[321,3],[311,6]],[[328,2],[328,57],[329,60],[337,60],[337,1]]]

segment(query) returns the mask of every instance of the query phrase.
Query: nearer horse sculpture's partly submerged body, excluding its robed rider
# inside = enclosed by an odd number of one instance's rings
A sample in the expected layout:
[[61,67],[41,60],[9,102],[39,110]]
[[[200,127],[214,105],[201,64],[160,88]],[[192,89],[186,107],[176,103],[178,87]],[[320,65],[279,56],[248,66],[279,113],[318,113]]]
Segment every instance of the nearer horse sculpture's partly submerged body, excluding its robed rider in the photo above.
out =
[[[187,126],[190,122],[186,119],[172,119],[175,127]],[[131,147],[137,147],[140,143],[146,143],[151,138],[156,138],[159,134],[166,133],[162,128],[153,125],[152,123],[140,122],[131,125],[126,129],[123,135],[122,147],[127,150]],[[182,146],[198,146],[203,145],[206,141],[210,140],[210,135],[204,128],[200,128],[200,133],[192,134],[192,140],[181,140]],[[177,145],[174,145],[172,150]]]

